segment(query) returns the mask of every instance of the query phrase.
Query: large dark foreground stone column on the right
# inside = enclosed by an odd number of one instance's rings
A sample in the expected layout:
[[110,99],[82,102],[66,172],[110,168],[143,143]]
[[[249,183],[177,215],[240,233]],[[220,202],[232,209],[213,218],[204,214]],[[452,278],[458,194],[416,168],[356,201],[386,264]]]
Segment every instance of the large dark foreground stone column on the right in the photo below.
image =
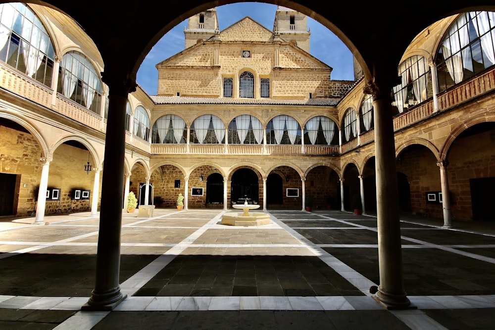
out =
[[[383,64],[383,63],[382,63]],[[381,67],[385,69],[385,64]],[[375,298],[386,307],[405,308],[410,301],[404,291],[402,250],[400,245],[400,222],[392,100],[394,83],[380,69],[374,81],[365,87],[365,93],[373,95],[376,154],[376,199],[378,220],[378,259],[380,286]],[[376,74],[376,73],[375,73]],[[383,75],[383,76],[382,76]],[[383,79],[383,80],[382,80]],[[377,83],[379,81],[380,83]]]

